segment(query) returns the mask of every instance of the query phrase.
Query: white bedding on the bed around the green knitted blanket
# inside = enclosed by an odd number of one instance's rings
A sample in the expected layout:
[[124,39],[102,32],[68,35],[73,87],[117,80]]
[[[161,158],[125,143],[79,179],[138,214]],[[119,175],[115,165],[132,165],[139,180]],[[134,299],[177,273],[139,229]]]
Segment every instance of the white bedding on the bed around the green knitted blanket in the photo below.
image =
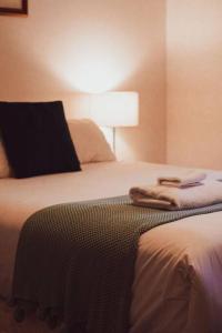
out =
[[[30,214],[57,203],[123,195],[131,186],[153,183],[178,170],[143,162],[102,162],[84,164],[82,172],[0,180],[0,297],[10,295],[19,233]],[[222,178],[220,172],[206,173]],[[222,332],[221,276],[222,212],[144,233],[135,262],[129,333]],[[0,330],[6,330],[3,325],[0,314]],[[34,330],[33,323],[32,331],[40,332]]]

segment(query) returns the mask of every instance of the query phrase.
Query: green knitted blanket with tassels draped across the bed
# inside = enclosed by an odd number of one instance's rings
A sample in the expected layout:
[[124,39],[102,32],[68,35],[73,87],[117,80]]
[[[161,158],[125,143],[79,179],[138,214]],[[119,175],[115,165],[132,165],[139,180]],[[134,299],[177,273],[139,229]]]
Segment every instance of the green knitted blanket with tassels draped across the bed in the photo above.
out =
[[68,333],[127,333],[140,235],[222,204],[159,211],[129,196],[49,206],[28,219],[16,259],[16,319],[31,310]]

